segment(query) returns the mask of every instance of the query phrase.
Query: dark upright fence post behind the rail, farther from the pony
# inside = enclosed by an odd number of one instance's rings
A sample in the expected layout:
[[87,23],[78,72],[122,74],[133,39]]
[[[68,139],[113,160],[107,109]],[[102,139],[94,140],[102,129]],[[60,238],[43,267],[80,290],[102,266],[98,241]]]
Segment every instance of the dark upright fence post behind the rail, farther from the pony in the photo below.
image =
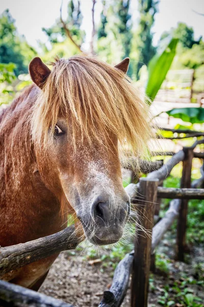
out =
[[[190,188],[193,149],[184,147],[183,150],[185,152],[185,159],[183,161],[181,188]],[[188,200],[181,200],[179,219],[177,223],[176,256],[175,256],[176,260],[180,261],[184,261],[184,253],[186,249],[187,213],[188,213]]]

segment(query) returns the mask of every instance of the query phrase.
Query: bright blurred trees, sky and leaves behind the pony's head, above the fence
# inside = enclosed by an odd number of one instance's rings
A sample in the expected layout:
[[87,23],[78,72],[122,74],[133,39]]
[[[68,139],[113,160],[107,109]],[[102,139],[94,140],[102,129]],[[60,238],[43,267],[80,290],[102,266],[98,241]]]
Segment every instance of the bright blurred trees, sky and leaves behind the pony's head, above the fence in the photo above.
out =
[[31,83],[37,55],[48,63],[83,52],[113,65],[128,56],[127,74],[162,113],[159,125],[200,128],[192,124],[204,112],[186,107],[204,98],[203,0],[7,0],[0,13],[1,104]]

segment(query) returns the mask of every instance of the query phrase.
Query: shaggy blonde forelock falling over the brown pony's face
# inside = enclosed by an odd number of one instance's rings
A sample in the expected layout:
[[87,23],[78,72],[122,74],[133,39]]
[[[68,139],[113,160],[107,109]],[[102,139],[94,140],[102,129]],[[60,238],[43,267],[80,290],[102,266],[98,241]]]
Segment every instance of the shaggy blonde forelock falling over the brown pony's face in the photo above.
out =
[[35,141],[48,141],[59,116],[71,124],[73,146],[86,138],[108,147],[104,140],[112,133],[123,148],[141,157],[151,137],[147,105],[131,79],[96,57],[53,63],[34,105]]

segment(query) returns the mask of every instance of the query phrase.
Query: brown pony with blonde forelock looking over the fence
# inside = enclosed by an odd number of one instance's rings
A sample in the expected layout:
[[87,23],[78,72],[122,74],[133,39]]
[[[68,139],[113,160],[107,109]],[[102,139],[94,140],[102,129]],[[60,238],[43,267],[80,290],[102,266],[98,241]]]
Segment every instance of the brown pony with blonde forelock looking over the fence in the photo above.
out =
[[[96,245],[117,242],[130,215],[121,149],[141,156],[150,136],[145,103],[125,73],[95,57],[36,57],[35,84],[0,114],[0,245],[53,234],[75,214]],[[57,255],[4,276],[38,290]]]

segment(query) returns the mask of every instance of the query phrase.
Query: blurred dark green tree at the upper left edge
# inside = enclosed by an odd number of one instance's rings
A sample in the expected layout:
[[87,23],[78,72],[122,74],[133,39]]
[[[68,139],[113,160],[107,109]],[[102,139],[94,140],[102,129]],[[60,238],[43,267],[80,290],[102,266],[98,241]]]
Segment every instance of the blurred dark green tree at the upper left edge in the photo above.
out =
[[0,15],[0,62],[16,64],[15,74],[28,72],[28,64],[36,55],[24,37],[19,36],[9,10]]

